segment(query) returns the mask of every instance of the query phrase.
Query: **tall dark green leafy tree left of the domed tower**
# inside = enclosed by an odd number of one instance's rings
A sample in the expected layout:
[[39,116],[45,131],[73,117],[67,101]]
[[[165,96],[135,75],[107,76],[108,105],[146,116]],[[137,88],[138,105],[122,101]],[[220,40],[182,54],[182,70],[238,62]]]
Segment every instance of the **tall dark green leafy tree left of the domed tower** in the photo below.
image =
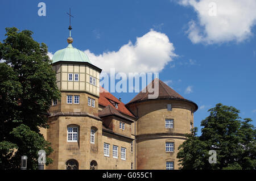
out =
[[36,169],[38,151],[53,151],[40,128],[48,128],[47,111],[60,92],[46,44],[15,27],[6,28],[6,36],[0,42],[0,169],[19,169],[22,155],[27,168]]

